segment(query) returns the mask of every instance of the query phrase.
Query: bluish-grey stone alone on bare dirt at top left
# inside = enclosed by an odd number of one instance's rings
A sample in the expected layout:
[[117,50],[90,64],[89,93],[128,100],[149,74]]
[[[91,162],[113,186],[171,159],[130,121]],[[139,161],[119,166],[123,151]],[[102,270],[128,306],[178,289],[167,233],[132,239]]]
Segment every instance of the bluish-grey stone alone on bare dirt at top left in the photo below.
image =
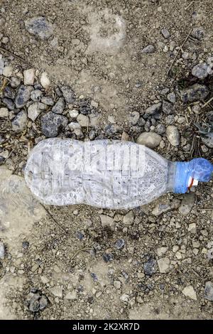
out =
[[48,39],[53,35],[53,25],[43,16],[29,18],[25,21],[25,26],[28,33],[42,40]]

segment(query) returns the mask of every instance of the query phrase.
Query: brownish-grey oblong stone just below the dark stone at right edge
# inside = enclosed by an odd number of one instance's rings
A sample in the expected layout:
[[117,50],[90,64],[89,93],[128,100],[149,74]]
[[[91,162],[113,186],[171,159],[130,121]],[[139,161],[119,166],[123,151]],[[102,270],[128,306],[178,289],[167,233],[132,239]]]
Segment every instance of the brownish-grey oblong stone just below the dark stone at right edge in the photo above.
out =
[[204,100],[209,95],[207,86],[195,84],[180,92],[182,102],[194,102]]

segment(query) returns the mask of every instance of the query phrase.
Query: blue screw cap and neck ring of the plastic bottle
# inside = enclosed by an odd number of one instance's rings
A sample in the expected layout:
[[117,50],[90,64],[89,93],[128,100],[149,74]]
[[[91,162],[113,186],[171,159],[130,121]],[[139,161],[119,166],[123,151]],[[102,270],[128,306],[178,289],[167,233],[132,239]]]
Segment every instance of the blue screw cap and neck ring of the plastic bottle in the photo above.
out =
[[186,193],[190,181],[208,182],[212,178],[213,165],[204,158],[195,158],[190,162],[177,162],[174,193]]

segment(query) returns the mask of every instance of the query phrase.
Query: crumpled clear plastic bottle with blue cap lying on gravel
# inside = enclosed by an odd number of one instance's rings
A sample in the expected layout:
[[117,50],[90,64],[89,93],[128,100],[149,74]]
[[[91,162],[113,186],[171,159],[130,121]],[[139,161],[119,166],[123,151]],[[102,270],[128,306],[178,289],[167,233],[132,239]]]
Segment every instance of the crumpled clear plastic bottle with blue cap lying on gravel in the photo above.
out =
[[212,171],[203,158],[173,163],[131,141],[54,138],[35,146],[25,179],[44,204],[128,209],[163,193],[186,193],[197,181],[209,181]]

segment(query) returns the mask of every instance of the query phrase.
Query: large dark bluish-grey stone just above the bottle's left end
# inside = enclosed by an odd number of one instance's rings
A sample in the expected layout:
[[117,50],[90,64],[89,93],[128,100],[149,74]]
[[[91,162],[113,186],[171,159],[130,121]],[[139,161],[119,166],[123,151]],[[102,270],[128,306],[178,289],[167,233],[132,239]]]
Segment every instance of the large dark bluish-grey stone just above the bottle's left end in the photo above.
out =
[[56,137],[60,128],[67,126],[68,119],[65,116],[48,112],[41,118],[41,129],[46,137]]

